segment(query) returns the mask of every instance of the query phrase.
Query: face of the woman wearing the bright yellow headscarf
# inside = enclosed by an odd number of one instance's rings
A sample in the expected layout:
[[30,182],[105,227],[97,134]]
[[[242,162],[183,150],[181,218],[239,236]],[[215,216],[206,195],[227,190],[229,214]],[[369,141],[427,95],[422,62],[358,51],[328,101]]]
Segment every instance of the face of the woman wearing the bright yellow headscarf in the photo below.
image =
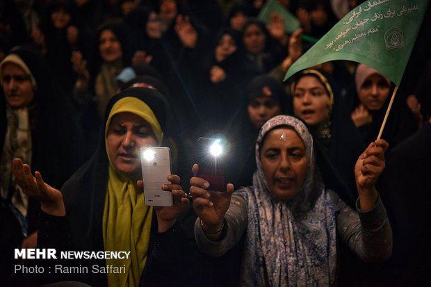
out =
[[139,149],[155,146],[157,140],[151,126],[133,113],[114,115],[108,126],[106,148],[115,170],[127,177],[140,175]]

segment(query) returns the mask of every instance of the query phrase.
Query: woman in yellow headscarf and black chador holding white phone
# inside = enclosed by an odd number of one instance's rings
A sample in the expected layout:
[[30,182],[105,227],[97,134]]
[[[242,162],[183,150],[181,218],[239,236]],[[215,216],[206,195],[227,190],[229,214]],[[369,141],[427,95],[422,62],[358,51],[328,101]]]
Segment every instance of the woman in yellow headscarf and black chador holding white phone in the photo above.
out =
[[44,236],[38,247],[53,247],[54,242],[60,243],[54,246],[58,253],[72,247],[127,254],[124,259],[104,256],[73,263],[88,266],[88,272],[72,279],[92,286],[138,286],[152,249],[158,245],[156,233],[178,232],[177,217],[189,204],[179,177],[171,174],[171,184],[162,186],[174,195],[172,207],[145,205],[142,186],[137,185],[141,179],[139,149],[163,144],[169,115],[167,101],[152,88],[130,88],[113,97],[106,108],[97,151],[61,193],[44,184],[38,172],[35,184],[29,167],[14,160],[17,182],[41,202],[42,222],[47,222],[39,230]]

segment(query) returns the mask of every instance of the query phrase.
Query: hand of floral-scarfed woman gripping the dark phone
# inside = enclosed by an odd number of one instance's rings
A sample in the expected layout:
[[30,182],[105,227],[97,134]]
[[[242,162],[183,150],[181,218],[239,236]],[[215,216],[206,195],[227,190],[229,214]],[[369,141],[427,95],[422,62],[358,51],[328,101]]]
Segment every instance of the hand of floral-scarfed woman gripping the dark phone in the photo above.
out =
[[193,197],[193,208],[202,220],[206,234],[217,233],[223,226],[225,213],[229,208],[234,185],[229,183],[225,191],[207,190],[209,182],[197,177],[198,165],[193,165],[193,175],[190,179],[190,195]]

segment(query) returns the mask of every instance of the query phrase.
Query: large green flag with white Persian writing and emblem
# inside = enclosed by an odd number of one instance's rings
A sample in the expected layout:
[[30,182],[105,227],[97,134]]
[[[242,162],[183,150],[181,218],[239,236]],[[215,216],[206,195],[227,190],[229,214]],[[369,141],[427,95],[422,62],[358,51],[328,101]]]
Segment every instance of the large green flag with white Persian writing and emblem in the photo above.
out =
[[330,60],[364,63],[400,85],[429,0],[365,1],[345,15],[288,69],[296,72]]

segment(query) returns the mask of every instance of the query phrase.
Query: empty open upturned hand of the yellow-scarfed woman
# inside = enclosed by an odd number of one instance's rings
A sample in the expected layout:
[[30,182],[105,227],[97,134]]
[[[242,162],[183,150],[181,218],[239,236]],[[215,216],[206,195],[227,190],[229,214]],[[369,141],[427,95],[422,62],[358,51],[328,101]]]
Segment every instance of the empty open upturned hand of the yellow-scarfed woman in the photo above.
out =
[[40,209],[44,213],[55,216],[65,216],[66,209],[63,202],[63,195],[60,190],[44,183],[40,172],[35,172],[35,177],[31,174],[30,166],[22,163],[20,158],[12,161],[13,176],[22,191],[40,202]]

